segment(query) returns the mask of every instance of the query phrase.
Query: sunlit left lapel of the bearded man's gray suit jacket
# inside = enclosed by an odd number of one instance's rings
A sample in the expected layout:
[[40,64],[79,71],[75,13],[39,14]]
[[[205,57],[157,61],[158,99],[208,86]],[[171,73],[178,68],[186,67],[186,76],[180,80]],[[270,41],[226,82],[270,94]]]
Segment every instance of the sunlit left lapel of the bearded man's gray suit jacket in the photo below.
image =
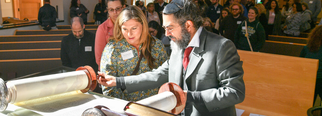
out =
[[[179,52],[180,53],[180,52]],[[178,53],[178,54],[179,54]],[[183,59],[183,54],[184,54],[184,50],[181,50],[180,55],[178,55],[177,59],[176,59],[176,70],[175,70],[175,82],[178,82],[178,85],[181,85],[181,78],[182,78],[182,72],[183,72],[183,64],[182,64],[182,59]]]

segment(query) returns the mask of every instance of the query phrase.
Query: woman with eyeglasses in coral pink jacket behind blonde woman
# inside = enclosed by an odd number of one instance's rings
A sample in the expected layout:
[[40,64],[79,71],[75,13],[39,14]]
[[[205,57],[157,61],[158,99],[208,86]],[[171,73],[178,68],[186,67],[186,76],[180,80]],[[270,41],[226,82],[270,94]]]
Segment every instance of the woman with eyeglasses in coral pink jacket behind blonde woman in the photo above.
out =
[[[107,0],[107,10],[109,18],[99,25],[95,37],[95,59],[99,65],[104,47],[109,42],[109,37],[113,36],[114,22],[125,7],[124,0]],[[99,65],[100,70],[100,65]]]

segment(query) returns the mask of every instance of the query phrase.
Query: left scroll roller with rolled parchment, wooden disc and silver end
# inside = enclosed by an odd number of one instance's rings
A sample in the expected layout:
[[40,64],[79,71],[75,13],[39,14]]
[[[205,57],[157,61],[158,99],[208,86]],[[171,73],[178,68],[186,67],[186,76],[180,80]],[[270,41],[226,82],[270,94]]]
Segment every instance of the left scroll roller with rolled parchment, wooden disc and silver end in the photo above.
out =
[[79,67],[74,72],[20,79],[7,83],[0,79],[0,111],[4,111],[8,103],[19,103],[78,90],[83,93],[91,92],[96,88],[96,84],[96,74],[90,66]]

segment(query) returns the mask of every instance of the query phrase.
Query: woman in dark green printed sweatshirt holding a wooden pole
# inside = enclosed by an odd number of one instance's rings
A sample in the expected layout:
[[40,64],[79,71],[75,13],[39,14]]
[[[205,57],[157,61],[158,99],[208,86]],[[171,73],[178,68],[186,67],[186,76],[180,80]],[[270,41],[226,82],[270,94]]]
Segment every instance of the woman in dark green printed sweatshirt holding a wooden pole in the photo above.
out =
[[[257,8],[251,7],[248,11],[248,19],[238,25],[234,36],[234,43],[237,49],[251,51],[252,48],[254,52],[259,52],[259,50],[264,46],[265,30],[260,24],[260,21],[256,19],[257,16]],[[247,37],[251,43],[251,47],[248,43]]]

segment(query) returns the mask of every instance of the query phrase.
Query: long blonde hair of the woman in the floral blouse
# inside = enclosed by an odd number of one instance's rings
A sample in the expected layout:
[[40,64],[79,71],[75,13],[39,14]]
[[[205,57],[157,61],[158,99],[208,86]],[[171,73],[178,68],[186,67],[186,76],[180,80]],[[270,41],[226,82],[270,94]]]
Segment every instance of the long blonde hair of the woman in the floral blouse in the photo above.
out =
[[131,19],[135,19],[137,22],[142,24],[142,33],[138,45],[142,44],[140,50],[142,50],[143,56],[147,59],[147,64],[150,69],[156,68],[156,65],[153,63],[155,59],[151,54],[152,46],[154,46],[156,40],[149,34],[147,19],[138,6],[129,5],[121,11],[118,18],[115,20],[113,37],[110,37],[109,40],[121,41],[124,39],[121,26]]

